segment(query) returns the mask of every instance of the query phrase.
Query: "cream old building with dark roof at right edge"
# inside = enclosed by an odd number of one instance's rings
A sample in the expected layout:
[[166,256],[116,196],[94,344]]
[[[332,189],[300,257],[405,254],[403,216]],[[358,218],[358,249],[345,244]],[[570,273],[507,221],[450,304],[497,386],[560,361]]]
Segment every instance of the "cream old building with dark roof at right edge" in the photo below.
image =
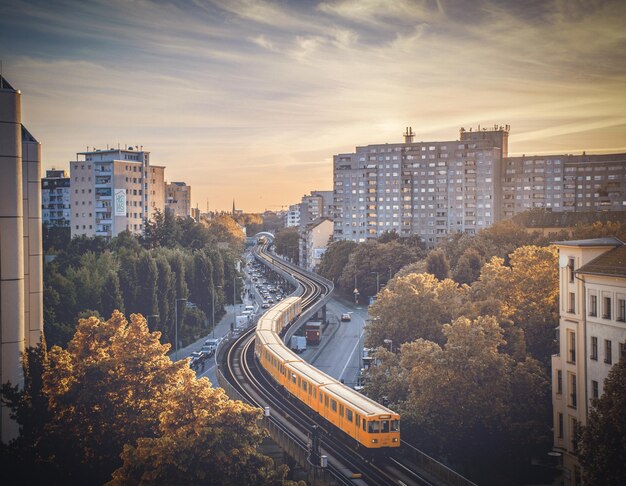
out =
[[582,483],[576,439],[609,370],[626,359],[626,245],[617,238],[561,241],[559,352],[552,356],[554,448],[566,486]]

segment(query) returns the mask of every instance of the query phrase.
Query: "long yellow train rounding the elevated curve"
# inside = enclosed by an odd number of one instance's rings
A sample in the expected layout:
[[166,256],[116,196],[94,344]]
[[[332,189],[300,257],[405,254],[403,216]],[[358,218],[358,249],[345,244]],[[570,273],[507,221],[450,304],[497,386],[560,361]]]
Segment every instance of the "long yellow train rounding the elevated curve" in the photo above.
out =
[[279,333],[301,312],[301,298],[289,297],[266,312],[257,325],[255,354],[289,393],[370,449],[400,445],[400,416],[322,373],[288,349]]

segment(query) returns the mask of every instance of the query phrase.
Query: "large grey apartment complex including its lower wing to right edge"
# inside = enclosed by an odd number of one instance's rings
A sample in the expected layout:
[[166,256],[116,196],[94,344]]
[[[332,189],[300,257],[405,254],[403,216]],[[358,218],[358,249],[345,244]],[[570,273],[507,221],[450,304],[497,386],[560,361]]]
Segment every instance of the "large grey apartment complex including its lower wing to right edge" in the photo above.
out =
[[509,126],[461,129],[459,139],[356,147],[333,158],[335,239],[385,231],[435,246],[532,208],[626,209],[626,154],[508,157]]

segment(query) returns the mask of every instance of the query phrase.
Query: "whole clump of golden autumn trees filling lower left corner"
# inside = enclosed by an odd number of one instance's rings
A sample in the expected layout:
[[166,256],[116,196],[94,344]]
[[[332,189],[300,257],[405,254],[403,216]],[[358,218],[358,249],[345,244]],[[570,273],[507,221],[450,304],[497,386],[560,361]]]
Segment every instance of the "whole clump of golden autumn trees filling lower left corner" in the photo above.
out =
[[[27,477],[55,484],[103,484],[116,469],[118,484],[131,477],[144,484],[280,481],[284,471],[256,452],[259,411],[197,380],[187,360],[170,360],[169,348],[138,314],[130,322],[119,312],[81,320],[66,349],[26,360],[25,389],[12,399],[26,433],[7,457],[28,452]],[[23,465],[13,464],[21,477]]]

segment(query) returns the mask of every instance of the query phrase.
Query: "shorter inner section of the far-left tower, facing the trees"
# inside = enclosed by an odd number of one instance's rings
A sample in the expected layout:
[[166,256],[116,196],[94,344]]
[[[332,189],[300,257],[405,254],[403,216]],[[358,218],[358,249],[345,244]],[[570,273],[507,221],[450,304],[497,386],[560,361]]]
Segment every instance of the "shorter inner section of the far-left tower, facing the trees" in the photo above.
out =
[[41,144],[22,127],[24,211],[24,338],[26,347],[43,334],[43,251],[41,241]]

